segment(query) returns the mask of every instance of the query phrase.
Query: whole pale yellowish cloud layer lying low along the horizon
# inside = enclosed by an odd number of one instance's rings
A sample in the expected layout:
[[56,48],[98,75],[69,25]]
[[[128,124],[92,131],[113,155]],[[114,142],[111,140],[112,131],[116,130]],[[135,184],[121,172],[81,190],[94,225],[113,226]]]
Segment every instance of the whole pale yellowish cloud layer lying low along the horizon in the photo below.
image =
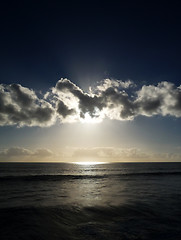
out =
[[120,147],[67,147],[61,152],[39,148],[30,150],[22,147],[10,147],[0,151],[0,162],[153,162],[180,161],[181,153],[145,152],[138,148]]

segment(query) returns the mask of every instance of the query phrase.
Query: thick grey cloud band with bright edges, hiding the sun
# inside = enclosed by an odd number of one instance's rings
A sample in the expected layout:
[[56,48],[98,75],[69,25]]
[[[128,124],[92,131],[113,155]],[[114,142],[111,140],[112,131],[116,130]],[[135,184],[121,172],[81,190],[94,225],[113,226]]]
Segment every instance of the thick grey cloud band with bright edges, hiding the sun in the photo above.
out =
[[[40,95],[40,94],[39,94]],[[105,79],[84,92],[60,79],[45,95],[19,84],[0,84],[0,125],[47,127],[56,121],[133,120],[137,116],[181,117],[181,86],[170,82],[143,85]]]

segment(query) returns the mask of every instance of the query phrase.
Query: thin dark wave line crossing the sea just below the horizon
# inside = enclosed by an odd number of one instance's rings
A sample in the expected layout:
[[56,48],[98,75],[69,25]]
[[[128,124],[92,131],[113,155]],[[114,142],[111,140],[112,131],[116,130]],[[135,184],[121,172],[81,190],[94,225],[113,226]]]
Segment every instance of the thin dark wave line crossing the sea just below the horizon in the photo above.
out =
[[103,178],[121,178],[131,176],[167,176],[181,175],[181,171],[172,172],[137,172],[137,173],[119,173],[119,174],[96,174],[96,175],[22,175],[22,176],[0,176],[0,181],[61,181],[61,180],[76,180],[76,179],[103,179]]

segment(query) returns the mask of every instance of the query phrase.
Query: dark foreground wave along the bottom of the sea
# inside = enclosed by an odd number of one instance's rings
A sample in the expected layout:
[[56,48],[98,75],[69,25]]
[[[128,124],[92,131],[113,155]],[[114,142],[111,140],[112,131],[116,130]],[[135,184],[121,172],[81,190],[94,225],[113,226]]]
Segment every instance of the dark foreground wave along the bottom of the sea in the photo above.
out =
[[2,240],[181,239],[179,214],[138,202],[118,207],[6,208],[0,215]]

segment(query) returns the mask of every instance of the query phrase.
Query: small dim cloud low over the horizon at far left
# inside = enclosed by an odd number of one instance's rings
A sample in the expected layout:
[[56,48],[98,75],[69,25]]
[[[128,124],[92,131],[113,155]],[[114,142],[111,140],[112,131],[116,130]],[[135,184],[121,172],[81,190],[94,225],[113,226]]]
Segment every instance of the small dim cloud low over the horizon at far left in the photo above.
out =
[[36,160],[41,161],[45,158],[53,157],[54,154],[49,149],[38,148],[35,150],[29,150],[22,147],[10,147],[0,151],[0,161],[24,161],[24,160]]

